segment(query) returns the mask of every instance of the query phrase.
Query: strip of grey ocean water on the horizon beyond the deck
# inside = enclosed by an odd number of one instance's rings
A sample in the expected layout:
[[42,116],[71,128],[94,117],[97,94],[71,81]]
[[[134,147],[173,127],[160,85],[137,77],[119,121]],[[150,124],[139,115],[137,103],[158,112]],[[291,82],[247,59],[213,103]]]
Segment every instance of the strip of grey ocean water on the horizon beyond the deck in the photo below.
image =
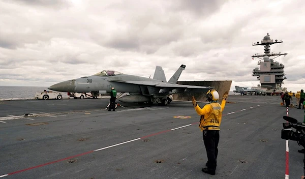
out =
[[[43,92],[44,90],[48,90],[48,87],[41,87],[41,86],[0,86],[0,99],[35,98],[36,92]],[[240,94],[229,92],[229,95],[240,95]]]

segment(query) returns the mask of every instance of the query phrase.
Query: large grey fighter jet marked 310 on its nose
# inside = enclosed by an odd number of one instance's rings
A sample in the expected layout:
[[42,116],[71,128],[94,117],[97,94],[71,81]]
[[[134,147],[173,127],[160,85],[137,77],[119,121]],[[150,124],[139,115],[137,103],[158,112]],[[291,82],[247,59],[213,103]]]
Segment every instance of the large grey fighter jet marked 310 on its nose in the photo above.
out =
[[159,103],[167,105],[169,95],[185,92],[207,92],[214,88],[210,86],[194,86],[176,84],[180,74],[186,66],[181,65],[174,75],[166,81],[162,67],[157,66],[153,78],[123,74],[114,70],[103,70],[92,76],[84,76],[54,84],[48,89],[58,92],[70,93],[110,93],[114,87],[117,93],[126,94],[118,96],[117,100],[124,103]]

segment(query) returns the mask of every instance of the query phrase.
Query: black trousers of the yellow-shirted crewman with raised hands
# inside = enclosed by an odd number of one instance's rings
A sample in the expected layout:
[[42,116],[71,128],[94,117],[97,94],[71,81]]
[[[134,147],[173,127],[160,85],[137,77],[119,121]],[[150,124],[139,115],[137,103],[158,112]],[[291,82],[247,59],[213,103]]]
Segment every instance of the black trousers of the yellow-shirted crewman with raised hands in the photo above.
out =
[[218,142],[219,131],[217,130],[204,130],[203,142],[205,145],[207,155],[207,168],[210,170],[216,170],[217,167],[217,155],[218,155]]

